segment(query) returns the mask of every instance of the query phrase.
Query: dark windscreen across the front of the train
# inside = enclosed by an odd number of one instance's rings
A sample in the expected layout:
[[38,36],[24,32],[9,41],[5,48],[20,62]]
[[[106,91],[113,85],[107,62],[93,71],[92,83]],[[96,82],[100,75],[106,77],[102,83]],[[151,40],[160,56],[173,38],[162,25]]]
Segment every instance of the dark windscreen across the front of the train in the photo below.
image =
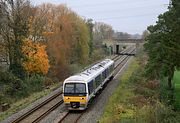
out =
[[66,83],[64,95],[86,95],[86,85],[84,83]]

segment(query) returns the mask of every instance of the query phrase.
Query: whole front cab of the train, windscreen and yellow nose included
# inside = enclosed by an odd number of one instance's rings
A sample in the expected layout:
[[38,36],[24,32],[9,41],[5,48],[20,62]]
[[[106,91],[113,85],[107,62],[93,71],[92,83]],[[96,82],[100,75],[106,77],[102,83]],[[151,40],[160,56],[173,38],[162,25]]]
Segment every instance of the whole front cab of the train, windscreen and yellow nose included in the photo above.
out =
[[87,85],[84,81],[78,80],[81,77],[73,76],[65,81],[63,86],[64,104],[69,110],[84,110],[87,107],[88,92]]

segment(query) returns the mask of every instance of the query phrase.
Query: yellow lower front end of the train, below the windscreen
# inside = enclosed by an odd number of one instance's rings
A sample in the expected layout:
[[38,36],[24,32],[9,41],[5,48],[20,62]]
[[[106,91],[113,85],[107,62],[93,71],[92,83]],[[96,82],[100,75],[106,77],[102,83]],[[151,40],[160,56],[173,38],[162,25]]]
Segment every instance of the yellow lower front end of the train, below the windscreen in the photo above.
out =
[[63,100],[69,110],[85,110],[88,102],[86,96],[64,96]]

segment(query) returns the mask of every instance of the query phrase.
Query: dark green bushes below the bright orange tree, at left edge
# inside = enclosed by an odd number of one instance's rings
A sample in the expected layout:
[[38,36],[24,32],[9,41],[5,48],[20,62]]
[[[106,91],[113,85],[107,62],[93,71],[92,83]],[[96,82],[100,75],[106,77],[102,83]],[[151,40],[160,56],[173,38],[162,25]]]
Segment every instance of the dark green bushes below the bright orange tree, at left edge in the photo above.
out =
[[13,99],[21,99],[33,92],[42,90],[45,78],[32,75],[24,80],[10,72],[0,72],[0,101],[11,103]]

